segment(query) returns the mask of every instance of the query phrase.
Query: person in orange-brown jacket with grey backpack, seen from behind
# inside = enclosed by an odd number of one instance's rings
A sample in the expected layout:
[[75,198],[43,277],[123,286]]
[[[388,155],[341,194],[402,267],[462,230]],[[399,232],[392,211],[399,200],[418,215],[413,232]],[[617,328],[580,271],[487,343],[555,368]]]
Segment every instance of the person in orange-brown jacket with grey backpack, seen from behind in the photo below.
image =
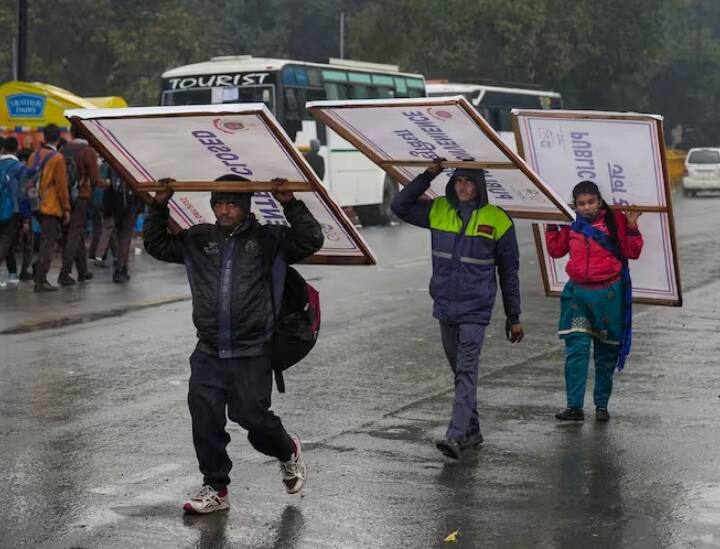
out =
[[52,292],[58,288],[48,282],[47,274],[60,239],[60,229],[70,222],[71,206],[65,159],[58,152],[60,128],[48,124],[43,128],[43,137],[42,147],[28,159],[30,170],[37,171],[33,186],[39,198],[40,248],[35,268],[35,291]]

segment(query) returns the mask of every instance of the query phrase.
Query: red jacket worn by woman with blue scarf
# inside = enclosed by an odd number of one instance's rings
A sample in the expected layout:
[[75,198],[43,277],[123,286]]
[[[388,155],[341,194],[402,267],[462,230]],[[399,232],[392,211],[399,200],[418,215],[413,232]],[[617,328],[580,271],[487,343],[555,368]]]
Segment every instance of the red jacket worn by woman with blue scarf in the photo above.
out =
[[[605,212],[600,210],[592,226],[608,234]],[[628,226],[627,218],[622,213],[613,212],[613,215],[618,228],[620,251],[628,259],[637,259],[643,246],[640,231],[637,226]],[[545,241],[551,257],[559,258],[570,253],[565,271],[575,283],[603,284],[620,276],[622,263],[591,238],[571,230],[569,225],[548,225]]]

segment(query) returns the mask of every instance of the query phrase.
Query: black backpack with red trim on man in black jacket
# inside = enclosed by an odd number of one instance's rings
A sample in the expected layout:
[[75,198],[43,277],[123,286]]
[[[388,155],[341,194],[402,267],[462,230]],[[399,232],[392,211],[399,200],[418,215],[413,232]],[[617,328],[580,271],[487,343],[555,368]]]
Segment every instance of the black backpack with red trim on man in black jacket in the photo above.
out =
[[270,280],[275,324],[271,362],[278,391],[285,392],[283,370],[300,362],[315,346],[320,332],[320,294],[290,267],[263,227],[261,242]]

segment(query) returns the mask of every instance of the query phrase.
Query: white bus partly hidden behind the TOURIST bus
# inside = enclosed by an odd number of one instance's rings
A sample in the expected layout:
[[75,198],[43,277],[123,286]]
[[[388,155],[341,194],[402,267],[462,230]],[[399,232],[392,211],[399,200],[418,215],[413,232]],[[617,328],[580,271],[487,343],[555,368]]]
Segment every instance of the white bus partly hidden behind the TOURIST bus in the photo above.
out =
[[444,80],[429,80],[426,88],[430,97],[462,95],[467,98],[513,150],[516,145],[510,116],[512,109],[562,109],[562,97],[554,91],[453,84]]

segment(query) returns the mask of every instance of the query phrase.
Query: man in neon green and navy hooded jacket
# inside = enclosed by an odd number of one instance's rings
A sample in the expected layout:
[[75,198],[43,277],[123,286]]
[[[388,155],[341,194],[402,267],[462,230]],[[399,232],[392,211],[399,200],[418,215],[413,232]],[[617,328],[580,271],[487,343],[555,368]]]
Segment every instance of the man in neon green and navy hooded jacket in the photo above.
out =
[[[488,203],[483,170],[457,169],[445,196],[421,197],[442,171],[436,159],[398,193],[392,210],[400,219],[432,232],[433,316],[440,321],[443,347],[455,375],[455,400],[445,438],[446,456],[482,443],[477,413],[477,376],[485,329],[500,279],[508,339],[523,338],[520,324],[519,251],[512,219]],[[497,278],[496,278],[497,271]]]

